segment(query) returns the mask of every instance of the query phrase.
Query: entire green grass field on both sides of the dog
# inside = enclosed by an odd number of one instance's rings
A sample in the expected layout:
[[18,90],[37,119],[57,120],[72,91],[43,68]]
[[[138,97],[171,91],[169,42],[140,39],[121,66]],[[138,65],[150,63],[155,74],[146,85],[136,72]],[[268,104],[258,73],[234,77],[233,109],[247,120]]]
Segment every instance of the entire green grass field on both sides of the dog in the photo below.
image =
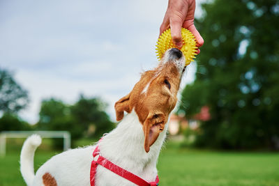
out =
[[[22,143],[22,142],[17,142]],[[85,143],[85,141],[80,142]],[[16,143],[15,143],[16,144]],[[86,144],[84,144],[86,145]],[[24,185],[19,146],[0,157],[0,185]],[[44,146],[35,155],[36,169],[54,152]],[[177,148],[169,142],[158,162],[160,185],[279,185],[278,153],[234,153]]]

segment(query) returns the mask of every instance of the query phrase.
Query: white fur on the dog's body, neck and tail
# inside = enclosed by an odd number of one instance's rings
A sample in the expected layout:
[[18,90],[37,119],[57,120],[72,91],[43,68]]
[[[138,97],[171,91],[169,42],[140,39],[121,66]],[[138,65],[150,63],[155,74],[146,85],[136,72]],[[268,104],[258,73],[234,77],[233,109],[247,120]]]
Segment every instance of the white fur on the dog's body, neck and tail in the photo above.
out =
[[[149,153],[146,153],[144,150],[142,124],[135,111],[132,111],[123,118],[112,132],[100,141],[98,144],[100,154],[107,158],[107,160],[144,178],[148,182],[154,181],[157,175],[156,162],[166,136],[166,131],[167,125],[165,130],[160,133],[156,142],[151,146]],[[45,173],[50,173],[55,178],[57,185],[90,185],[92,153],[96,146],[76,148],[55,155],[43,166],[40,166],[34,178],[33,153],[36,148],[34,146],[31,147],[32,137],[25,141],[20,160],[22,176],[26,180],[27,185],[43,185],[42,177]],[[99,165],[96,173],[96,185],[125,186],[135,184]]]

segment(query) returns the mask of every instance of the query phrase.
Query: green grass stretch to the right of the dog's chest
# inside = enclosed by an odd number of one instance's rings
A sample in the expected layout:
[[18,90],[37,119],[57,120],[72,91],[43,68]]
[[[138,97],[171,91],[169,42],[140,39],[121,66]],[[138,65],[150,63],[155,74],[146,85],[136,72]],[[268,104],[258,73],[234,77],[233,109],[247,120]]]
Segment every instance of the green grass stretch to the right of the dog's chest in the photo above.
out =
[[279,185],[279,154],[167,148],[158,171],[160,185]]

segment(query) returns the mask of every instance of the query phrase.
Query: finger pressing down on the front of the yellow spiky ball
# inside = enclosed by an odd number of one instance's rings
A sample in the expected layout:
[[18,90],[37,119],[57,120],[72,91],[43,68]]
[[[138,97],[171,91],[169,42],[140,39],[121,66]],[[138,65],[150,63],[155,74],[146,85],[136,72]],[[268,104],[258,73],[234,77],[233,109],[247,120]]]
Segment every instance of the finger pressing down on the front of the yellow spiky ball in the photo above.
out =
[[172,42],[174,42],[174,45],[179,48],[181,48],[183,45],[181,38],[181,26],[182,22],[179,20],[170,20],[170,33],[172,35]]

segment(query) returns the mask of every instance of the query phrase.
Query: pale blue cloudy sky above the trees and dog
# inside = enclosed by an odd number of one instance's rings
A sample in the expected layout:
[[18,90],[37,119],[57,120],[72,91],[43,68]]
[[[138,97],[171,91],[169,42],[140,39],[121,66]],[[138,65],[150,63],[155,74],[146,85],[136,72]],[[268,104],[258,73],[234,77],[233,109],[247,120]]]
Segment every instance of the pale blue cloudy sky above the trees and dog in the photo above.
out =
[[[36,123],[43,99],[73,104],[82,93],[107,102],[115,121],[114,102],[158,64],[165,10],[167,0],[1,1],[0,68],[13,73],[30,99],[20,117]],[[201,15],[197,4],[195,16]],[[188,65],[181,89],[195,70],[195,62]]]

